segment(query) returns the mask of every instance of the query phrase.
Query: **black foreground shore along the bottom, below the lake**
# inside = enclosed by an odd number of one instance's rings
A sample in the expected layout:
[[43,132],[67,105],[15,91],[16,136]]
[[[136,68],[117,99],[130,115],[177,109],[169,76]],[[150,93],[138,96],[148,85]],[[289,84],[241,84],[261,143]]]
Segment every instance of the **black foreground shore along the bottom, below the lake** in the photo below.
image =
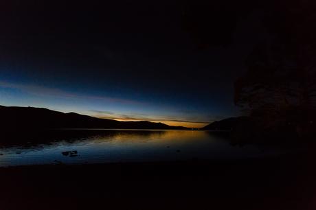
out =
[[229,162],[0,169],[1,209],[315,209],[313,152]]

